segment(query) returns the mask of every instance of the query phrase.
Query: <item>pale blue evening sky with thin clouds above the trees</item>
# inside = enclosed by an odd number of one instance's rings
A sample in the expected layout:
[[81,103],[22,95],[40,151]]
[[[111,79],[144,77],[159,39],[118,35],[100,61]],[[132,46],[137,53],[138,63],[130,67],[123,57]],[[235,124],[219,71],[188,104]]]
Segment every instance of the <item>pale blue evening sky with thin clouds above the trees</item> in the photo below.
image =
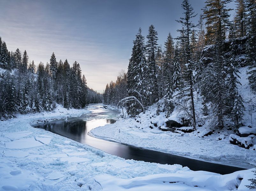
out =
[[[205,0],[190,0],[197,24]],[[119,72],[127,71],[133,40],[150,25],[164,45],[181,26],[182,0],[0,0],[0,36],[9,51],[27,51],[29,61],[79,62],[87,85],[103,92]],[[230,4],[230,8],[235,8]],[[233,15],[234,13],[231,13]]]

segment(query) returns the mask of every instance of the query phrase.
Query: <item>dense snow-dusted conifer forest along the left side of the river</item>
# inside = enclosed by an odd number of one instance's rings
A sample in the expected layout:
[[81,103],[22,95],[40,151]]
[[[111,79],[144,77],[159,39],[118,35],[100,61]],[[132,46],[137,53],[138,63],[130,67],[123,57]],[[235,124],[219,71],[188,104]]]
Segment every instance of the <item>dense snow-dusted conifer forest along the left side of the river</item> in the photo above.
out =
[[51,111],[56,103],[64,108],[84,108],[89,103],[101,103],[102,95],[87,87],[80,64],[70,67],[68,60],[35,65],[26,50],[9,52],[0,37],[0,115],[12,117],[15,113]]

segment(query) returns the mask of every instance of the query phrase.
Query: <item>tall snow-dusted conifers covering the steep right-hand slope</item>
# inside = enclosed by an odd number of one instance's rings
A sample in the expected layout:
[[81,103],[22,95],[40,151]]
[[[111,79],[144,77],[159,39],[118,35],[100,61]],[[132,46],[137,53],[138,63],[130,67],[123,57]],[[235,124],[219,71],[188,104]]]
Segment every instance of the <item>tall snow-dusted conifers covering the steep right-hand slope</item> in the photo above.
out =
[[[236,15],[231,21],[230,2],[206,0],[203,13],[194,24],[197,14],[189,0],[183,0],[183,15],[177,20],[182,26],[177,30],[179,36],[174,39],[169,33],[163,48],[158,45],[153,25],[149,26],[146,41],[139,28],[128,64],[127,95],[135,96],[145,108],[163,99],[166,117],[175,106],[183,104],[179,101],[187,101],[189,105],[182,108],[194,127],[194,97],[201,96],[202,113],[213,117],[216,128],[226,126],[227,116],[234,130],[241,126],[244,101],[238,91],[240,67],[249,66],[248,80],[252,91],[256,88],[256,3],[236,0]],[[110,104],[125,96],[114,96]],[[126,107],[132,116],[142,111],[133,100]]]

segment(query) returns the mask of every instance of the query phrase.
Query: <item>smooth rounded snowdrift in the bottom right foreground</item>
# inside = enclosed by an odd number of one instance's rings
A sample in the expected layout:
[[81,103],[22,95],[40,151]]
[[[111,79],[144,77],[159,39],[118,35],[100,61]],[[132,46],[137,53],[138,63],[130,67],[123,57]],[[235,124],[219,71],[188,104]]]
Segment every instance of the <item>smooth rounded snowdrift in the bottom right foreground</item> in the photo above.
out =
[[248,171],[246,170],[226,175],[206,173],[204,171],[181,171],[177,173],[153,174],[132,179],[120,179],[110,175],[101,175],[95,178],[95,184],[99,184],[102,191],[247,190],[248,188],[245,187],[245,184],[248,182],[244,180],[248,177],[247,173]]

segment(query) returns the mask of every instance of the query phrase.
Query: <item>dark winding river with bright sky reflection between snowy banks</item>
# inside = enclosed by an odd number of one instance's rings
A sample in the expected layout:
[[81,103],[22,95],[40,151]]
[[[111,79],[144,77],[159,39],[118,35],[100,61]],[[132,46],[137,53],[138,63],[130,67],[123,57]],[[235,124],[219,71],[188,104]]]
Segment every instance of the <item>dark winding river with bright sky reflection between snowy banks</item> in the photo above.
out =
[[91,104],[88,106],[88,109],[91,110],[92,113],[84,114],[80,117],[69,117],[67,119],[38,123],[33,126],[73,139],[79,143],[90,145],[124,159],[143,160],[146,162],[170,165],[180,164],[182,166],[188,166],[194,171],[203,170],[220,174],[244,170],[244,168],[189,159],[91,137],[87,134],[91,129],[105,124],[115,123],[120,116],[120,112],[105,109],[101,104]]

